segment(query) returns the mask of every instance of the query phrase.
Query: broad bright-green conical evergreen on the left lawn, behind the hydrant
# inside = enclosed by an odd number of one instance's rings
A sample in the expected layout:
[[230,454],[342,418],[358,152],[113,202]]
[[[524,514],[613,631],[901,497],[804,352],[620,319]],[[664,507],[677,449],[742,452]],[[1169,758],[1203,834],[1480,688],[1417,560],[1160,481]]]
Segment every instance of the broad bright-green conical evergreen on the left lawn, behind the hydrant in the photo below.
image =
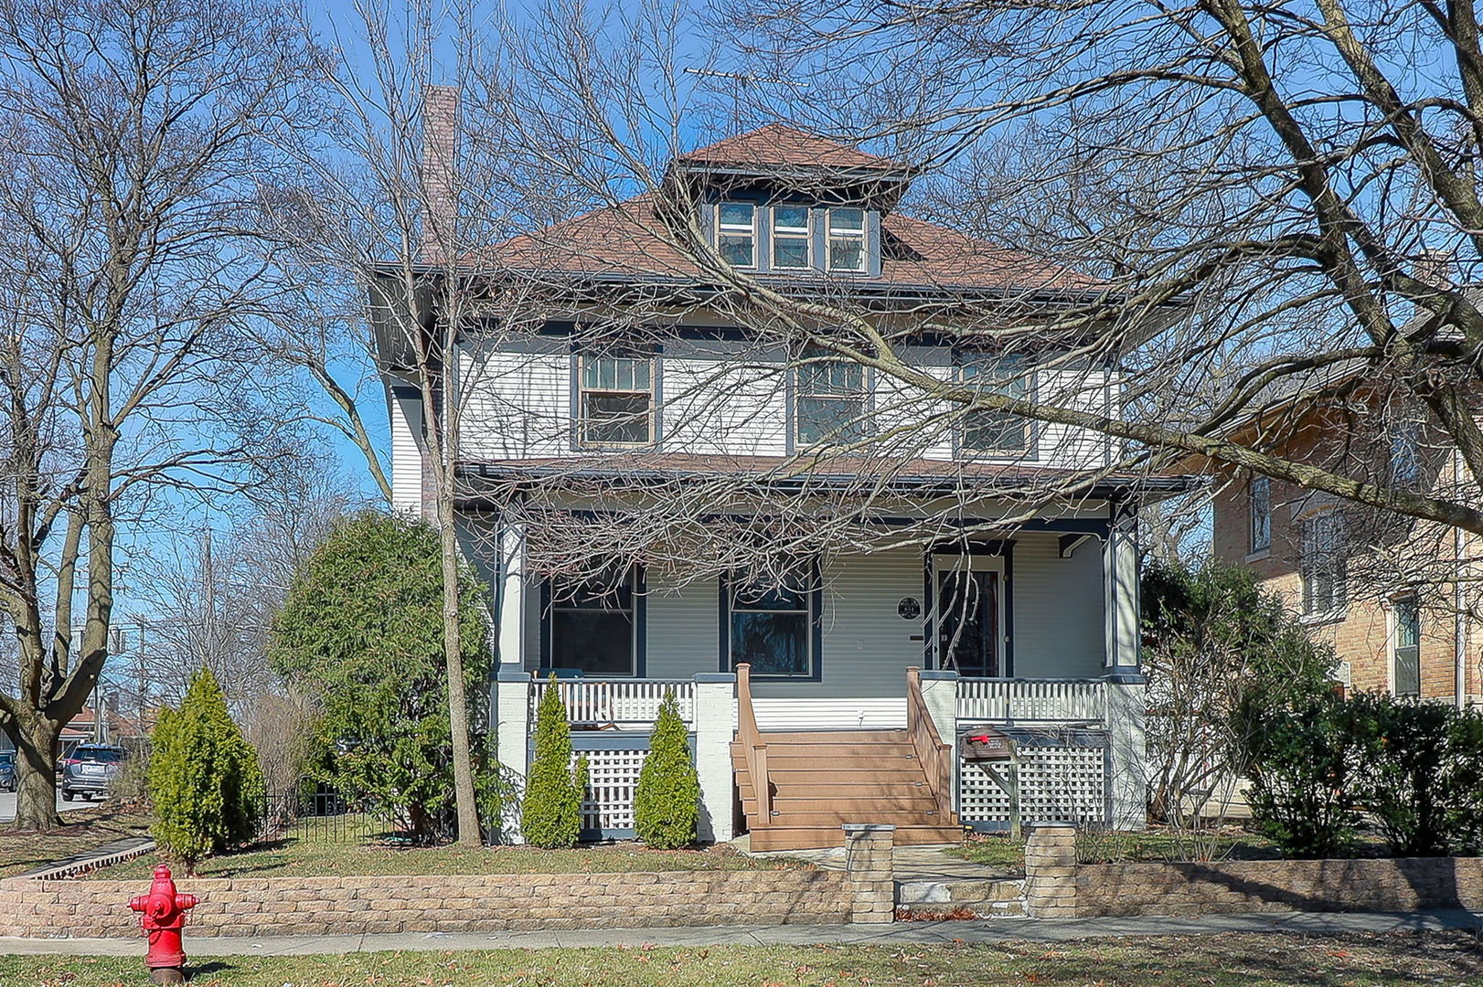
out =
[[150,740],[150,833],[194,874],[206,854],[252,837],[264,802],[258,756],[209,668],[191,676],[181,708],[163,710]]

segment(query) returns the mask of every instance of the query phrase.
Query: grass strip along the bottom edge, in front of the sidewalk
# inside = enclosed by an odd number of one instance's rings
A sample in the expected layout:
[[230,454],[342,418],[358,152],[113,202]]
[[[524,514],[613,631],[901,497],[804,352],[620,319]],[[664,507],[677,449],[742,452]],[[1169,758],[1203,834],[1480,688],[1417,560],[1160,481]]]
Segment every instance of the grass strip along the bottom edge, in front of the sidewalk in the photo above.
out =
[[[187,950],[190,943],[187,943]],[[547,948],[230,956],[194,987],[1390,987],[1483,984],[1464,932],[1091,940],[1065,944]],[[7,987],[141,983],[138,957],[0,956]]]

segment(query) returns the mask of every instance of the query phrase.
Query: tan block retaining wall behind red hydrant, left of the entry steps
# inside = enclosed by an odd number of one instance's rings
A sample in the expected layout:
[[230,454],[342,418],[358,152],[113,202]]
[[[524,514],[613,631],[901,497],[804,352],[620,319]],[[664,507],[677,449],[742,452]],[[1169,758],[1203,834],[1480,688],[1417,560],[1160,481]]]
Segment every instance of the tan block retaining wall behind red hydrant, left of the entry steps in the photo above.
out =
[[[887,843],[888,846],[888,843]],[[848,871],[731,870],[448,877],[233,877],[179,882],[200,897],[190,935],[504,932],[670,925],[830,925],[891,920],[872,857]],[[863,865],[863,863],[862,863]],[[859,895],[857,895],[859,889]],[[7,935],[135,937],[129,898],[148,880],[0,880]]]

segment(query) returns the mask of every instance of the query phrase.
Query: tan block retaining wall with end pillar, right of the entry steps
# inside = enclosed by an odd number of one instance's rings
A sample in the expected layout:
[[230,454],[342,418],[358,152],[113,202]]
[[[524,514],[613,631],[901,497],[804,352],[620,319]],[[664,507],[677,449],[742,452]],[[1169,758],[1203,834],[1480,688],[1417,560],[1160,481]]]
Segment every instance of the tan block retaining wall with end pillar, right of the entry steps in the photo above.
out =
[[1038,827],[1025,848],[1034,917],[1243,911],[1483,908],[1483,858],[1259,860],[1075,864],[1071,827]]

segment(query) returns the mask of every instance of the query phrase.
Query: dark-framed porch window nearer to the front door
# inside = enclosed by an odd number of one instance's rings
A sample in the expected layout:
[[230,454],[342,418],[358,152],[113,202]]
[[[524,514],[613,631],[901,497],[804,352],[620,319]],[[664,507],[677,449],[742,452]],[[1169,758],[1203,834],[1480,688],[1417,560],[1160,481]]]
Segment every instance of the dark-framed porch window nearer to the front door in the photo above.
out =
[[814,594],[805,578],[737,582],[730,587],[731,667],[752,665],[753,676],[813,674]]

